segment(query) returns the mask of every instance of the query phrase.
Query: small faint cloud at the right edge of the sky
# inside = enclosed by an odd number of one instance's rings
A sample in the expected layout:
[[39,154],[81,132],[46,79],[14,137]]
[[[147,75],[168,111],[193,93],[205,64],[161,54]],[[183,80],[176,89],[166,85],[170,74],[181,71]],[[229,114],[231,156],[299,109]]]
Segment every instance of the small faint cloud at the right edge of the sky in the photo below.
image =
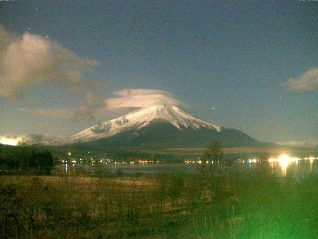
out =
[[318,68],[306,71],[298,78],[290,78],[285,83],[291,91],[313,91],[318,89]]

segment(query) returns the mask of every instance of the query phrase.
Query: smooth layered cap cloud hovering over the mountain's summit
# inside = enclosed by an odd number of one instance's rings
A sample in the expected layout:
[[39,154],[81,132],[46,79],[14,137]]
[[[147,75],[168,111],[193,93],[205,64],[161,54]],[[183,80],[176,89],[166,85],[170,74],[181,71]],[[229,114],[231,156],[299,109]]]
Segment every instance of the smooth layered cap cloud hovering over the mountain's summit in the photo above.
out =
[[188,106],[166,91],[152,89],[124,89],[116,91],[113,95],[119,97],[107,98],[105,103],[108,109],[116,108],[141,108],[156,104],[175,105],[188,108]]

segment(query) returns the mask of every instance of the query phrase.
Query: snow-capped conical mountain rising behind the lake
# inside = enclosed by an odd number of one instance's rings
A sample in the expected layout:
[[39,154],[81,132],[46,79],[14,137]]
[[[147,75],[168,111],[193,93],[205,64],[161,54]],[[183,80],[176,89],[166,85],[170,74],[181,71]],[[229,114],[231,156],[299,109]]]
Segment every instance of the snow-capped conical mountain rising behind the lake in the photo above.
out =
[[206,147],[220,141],[225,147],[268,146],[247,134],[213,125],[176,106],[155,105],[103,121],[71,137],[48,145],[86,145],[103,147]]

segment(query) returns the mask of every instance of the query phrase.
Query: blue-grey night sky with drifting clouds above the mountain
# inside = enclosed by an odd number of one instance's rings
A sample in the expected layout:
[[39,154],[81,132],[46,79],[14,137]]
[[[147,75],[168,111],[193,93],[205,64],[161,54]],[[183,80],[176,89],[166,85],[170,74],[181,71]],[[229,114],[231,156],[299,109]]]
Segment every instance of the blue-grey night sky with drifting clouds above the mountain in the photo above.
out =
[[299,0],[0,1],[0,135],[70,136],[139,106],[107,103],[132,89],[261,141],[318,143],[317,16]]

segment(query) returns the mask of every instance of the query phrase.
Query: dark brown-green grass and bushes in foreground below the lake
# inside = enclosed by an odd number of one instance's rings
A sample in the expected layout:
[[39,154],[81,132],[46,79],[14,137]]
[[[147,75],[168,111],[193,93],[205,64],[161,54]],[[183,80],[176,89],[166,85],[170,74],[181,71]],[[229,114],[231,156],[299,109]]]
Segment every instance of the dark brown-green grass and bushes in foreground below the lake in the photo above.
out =
[[2,176],[2,238],[308,239],[318,177],[200,167],[156,178]]

